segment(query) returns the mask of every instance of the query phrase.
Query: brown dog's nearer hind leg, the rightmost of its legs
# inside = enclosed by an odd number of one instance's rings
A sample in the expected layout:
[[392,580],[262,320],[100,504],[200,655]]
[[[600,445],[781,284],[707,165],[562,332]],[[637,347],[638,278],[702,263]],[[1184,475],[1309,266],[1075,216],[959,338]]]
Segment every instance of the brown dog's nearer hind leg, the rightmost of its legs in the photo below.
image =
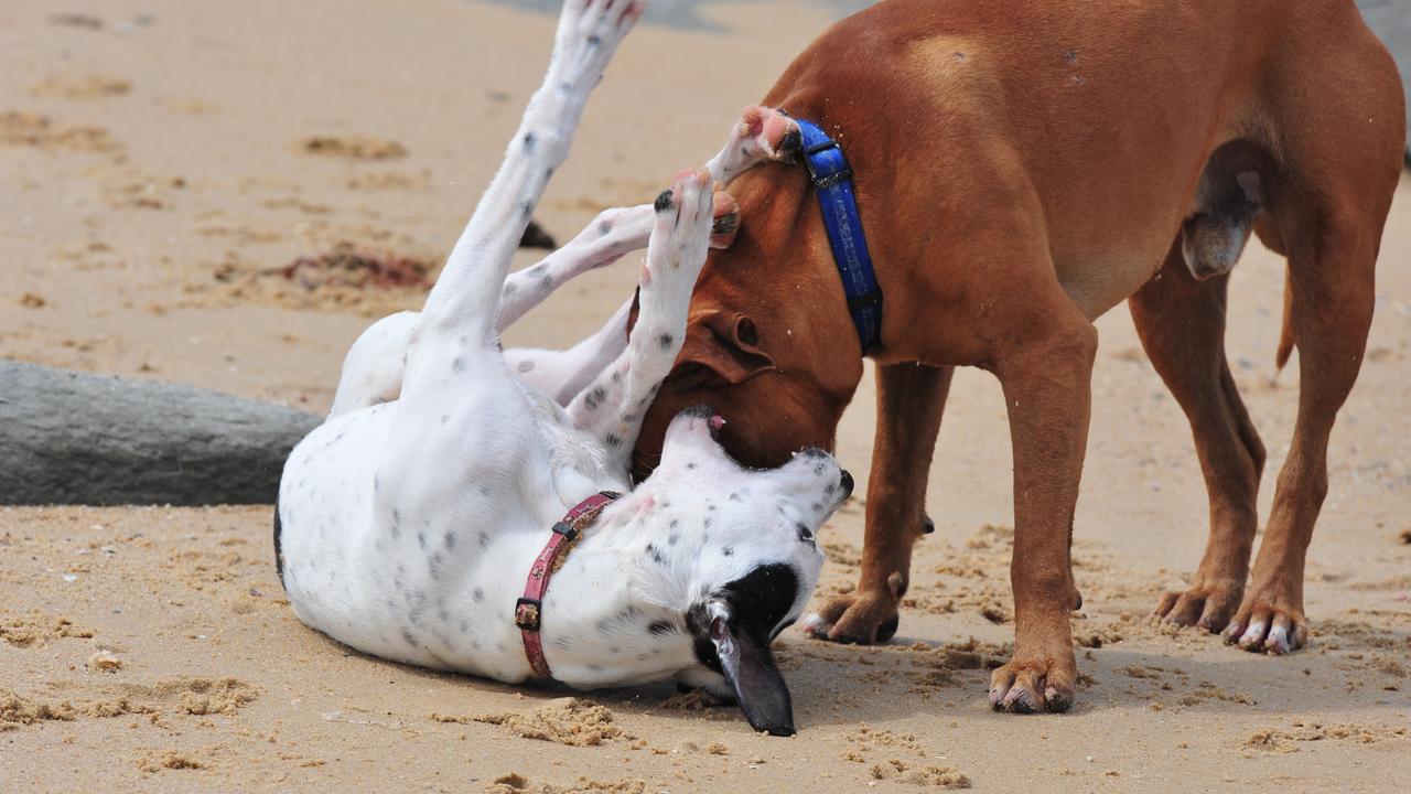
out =
[[[1298,339],[1298,420],[1278,473],[1274,507],[1229,641],[1253,651],[1304,646],[1304,557],[1328,493],[1328,437],[1348,398],[1367,343],[1374,304],[1380,222],[1352,213],[1342,225],[1319,219],[1285,233],[1292,280],[1291,322]],[[1369,223],[1371,227],[1349,227]]]

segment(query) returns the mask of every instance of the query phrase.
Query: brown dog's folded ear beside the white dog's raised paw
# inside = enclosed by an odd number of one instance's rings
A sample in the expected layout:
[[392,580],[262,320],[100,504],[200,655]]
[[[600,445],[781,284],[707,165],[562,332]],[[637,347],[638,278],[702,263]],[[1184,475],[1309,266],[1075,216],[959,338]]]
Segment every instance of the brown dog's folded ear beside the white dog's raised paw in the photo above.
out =
[[755,321],[741,312],[710,309],[690,319],[686,340],[669,381],[677,391],[704,386],[732,386],[775,369],[759,349]]

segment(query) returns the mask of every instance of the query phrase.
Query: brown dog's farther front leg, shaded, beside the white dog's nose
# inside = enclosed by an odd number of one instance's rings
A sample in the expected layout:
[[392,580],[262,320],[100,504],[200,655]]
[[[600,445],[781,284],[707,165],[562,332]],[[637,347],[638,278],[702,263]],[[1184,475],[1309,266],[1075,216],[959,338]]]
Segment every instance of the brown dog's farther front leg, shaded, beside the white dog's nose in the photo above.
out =
[[926,516],[926,483],[954,372],[919,363],[878,367],[862,575],[855,591],[827,599],[809,616],[810,636],[868,644],[896,634],[897,605],[912,578],[912,545],[934,530]]

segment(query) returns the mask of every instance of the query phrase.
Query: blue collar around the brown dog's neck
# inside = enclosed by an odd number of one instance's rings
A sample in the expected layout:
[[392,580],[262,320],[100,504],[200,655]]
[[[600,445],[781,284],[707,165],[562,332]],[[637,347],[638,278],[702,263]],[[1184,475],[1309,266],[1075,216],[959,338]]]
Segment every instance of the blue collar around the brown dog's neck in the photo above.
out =
[[828,227],[832,260],[842,277],[842,291],[848,298],[848,314],[858,328],[858,340],[866,355],[882,336],[882,287],[872,270],[872,254],[862,233],[858,199],[852,192],[852,168],[838,141],[828,137],[813,122],[794,119],[803,133],[804,164],[818,194],[823,225]]

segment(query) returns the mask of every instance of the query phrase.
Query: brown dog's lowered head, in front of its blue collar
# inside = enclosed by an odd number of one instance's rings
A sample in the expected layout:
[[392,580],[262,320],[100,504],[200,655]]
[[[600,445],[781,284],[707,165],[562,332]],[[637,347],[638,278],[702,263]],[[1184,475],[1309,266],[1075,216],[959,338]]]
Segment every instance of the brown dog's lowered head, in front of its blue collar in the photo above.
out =
[[[817,206],[803,168],[766,165],[731,185],[741,203],[734,246],[711,251],[676,366],[642,425],[634,475],[660,461],[672,418],[708,404],[725,418],[727,452],[746,466],[786,463],[809,446],[832,449],[862,377]],[[635,318],[634,318],[635,319]]]

